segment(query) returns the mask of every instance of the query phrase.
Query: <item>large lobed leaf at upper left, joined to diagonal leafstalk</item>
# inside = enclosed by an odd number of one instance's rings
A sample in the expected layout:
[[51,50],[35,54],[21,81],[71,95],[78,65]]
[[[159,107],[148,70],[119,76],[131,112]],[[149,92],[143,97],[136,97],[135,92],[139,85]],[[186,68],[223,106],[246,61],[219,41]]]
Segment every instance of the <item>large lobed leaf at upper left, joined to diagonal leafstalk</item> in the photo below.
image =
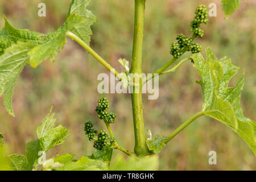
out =
[[57,53],[67,42],[66,33],[72,31],[89,44],[96,22],[91,11],[86,10],[90,0],[73,0],[65,22],[49,34],[14,28],[5,18],[5,27],[0,31],[0,96],[5,93],[4,105],[14,116],[12,96],[15,81],[26,63],[36,68],[46,59],[55,60]]

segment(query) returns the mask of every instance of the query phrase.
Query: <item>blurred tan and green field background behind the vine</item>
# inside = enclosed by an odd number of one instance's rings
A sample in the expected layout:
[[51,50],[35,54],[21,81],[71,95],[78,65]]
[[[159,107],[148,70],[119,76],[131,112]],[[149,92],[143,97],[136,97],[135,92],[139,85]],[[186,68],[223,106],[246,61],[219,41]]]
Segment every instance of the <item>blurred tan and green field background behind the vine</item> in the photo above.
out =
[[[47,16],[38,16],[38,3],[46,3]],[[203,0],[147,0],[143,48],[143,71],[154,72],[171,59],[170,45],[176,35],[190,36],[190,22],[196,6],[213,1]],[[203,48],[212,47],[217,57],[228,56],[240,72],[230,82],[236,83],[246,69],[245,88],[242,93],[244,114],[256,119],[256,2],[242,2],[239,11],[224,19],[220,1],[217,17],[209,18],[204,25],[205,36],[197,39]],[[51,32],[64,22],[70,1],[26,0],[1,1],[0,14],[17,28]],[[119,57],[131,60],[133,44],[134,2],[121,0],[92,0],[89,9],[97,16],[92,26],[94,35],[91,46],[118,71]],[[3,18],[0,20],[3,26]],[[205,55],[204,51],[202,52]],[[184,55],[188,56],[188,55]],[[36,138],[36,127],[50,107],[59,124],[70,130],[65,143],[50,150],[47,157],[56,153],[72,152],[90,155],[92,142],[84,135],[84,122],[91,120],[97,129],[104,127],[94,111],[97,93],[97,75],[106,72],[96,60],[78,44],[68,39],[55,63],[44,61],[37,69],[24,68],[14,90],[16,117],[8,115],[0,98],[0,131],[11,153],[25,154],[26,142]],[[107,73],[107,72],[106,72]],[[160,77],[158,100],[144,96],[144,121],[152,134],[168,135],[188,117],[201,109],[200,77],[191,63],[183,64],[178,71]],[[118,142],[133,150],[133,117],[129,94],[105,94],[111,110],[117,114],[113,125]],[[217,165],[209,165],[208,152],[217,152]],[[119,151],[115,151],[114,155]],[[160,154],[162,170],[255,170],[255,156],[249,146],[228,127],[213,119],[202,117],[177,135]]]

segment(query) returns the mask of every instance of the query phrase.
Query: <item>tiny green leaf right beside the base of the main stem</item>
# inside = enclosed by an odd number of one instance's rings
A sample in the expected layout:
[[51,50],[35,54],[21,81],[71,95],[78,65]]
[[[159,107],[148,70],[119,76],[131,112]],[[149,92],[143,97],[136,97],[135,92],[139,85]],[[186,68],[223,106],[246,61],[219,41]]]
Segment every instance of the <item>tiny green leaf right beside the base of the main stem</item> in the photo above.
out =
[[164,143],[166,139],[166,137],[160,137],[159,135],[156,135],[154,141],[147,140],[148,149],[154,152],[154,154],[159,154],[160,151],[166,146]]

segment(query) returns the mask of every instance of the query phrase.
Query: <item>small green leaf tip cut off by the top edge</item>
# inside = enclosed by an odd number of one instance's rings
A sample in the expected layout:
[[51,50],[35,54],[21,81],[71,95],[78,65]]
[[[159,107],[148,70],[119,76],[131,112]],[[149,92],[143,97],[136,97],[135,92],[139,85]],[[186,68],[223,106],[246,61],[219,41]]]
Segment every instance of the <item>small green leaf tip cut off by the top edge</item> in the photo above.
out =
[[[239,10],[241,0],[222,0],[221,6],[224,11],[225,17],[228,17],[234,13],[234,11]],[[242,0],[246,1],[246,0]]]

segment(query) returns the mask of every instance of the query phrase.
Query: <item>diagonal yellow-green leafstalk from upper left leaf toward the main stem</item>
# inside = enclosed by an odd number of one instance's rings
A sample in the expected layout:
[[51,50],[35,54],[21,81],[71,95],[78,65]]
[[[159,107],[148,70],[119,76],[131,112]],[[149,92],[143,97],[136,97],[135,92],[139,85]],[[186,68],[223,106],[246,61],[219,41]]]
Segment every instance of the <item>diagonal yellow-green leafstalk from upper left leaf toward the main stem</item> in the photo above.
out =
[[107,61],[105,61],[100,55],[98,55],[97,52],[95,52],[83,40],[81,40],[78,36],[69,31],[66,33],[66,35],[79,43],[86,51],[88,51],[93,57],[95,57],[98,62],[100,62],[106,69],[108,69],[109,72],[113,73],[115,77],[117,77],[119,73],[115,71],[115,69]]

